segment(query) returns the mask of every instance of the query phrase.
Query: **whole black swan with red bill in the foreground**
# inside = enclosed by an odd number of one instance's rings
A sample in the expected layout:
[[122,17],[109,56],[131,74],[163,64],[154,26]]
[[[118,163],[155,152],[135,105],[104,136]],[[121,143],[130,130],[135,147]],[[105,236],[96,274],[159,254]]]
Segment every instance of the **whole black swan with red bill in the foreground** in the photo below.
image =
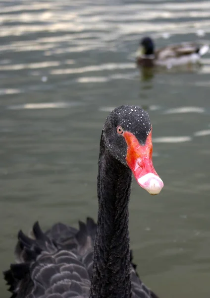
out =
[[18,233],[16,264],[4,272],[11,298],[157,298],[139,279],[129,249],[128,203],[132,172],[156,195],[163,187],[152,162],[148,113],[120,106],[101,135],[98,224],[87,218],[79,230],[55,224],[44,233]]

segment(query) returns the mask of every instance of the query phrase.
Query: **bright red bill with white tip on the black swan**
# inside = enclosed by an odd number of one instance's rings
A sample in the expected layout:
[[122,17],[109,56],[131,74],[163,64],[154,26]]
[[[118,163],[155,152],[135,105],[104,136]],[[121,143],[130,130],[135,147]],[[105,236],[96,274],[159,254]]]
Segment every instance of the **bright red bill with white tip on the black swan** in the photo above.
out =
[[163,188],[163,182],[153,166],[152,130],[144,146],[130,132],[124,132],[127,143],[126,162],[136,178],[138,184],[151,195],[157,195]]

